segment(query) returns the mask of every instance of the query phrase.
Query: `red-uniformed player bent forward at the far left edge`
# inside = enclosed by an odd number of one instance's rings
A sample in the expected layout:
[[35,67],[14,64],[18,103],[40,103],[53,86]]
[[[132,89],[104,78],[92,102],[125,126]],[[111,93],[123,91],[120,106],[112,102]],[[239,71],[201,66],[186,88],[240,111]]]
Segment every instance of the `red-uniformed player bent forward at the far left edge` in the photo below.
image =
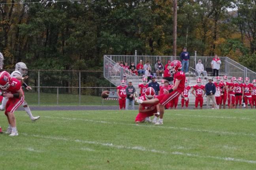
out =
[[16,119],[13,114],[16,109],[24,102],[24,92],[21,89],[21,82],[18,79],[11,78],[11,75],[3,71],[0,73],[0,89],[5,98],[8,98],[6,103],[5,115],[9,123],[6,133],[9,136],[18,136],[18,131],[16,128]]

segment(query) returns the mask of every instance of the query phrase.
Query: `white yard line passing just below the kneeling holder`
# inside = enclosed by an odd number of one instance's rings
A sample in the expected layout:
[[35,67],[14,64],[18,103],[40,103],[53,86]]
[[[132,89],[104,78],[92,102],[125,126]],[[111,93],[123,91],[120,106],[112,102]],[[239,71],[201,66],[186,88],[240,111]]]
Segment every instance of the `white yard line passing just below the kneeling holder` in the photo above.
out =
[[[121,125],[128,125],[128,126],[137,126],[134,124],[128,123],[118,123],[118,122],[106,122],[101,120],[88,120],[88,119],[80,119],[80,118],[66,118],[66,117],[53,117],[53,116],[41,116],[45,118],[55,118],[55,119],[66,119],[66,120],[81,120],[86,122],[93,122],[93,123],[104,123],[104,124],[121,124]],[[242,133],[242,132],[228,132],[228,131],[214,131],[214,130],[206,130],[206,129],[194,129],[188,127],[173,127],[173,126],[159,126],[159,125],[142,125],[140,124],[138,127],[154,127],[154,128],[162,128],[162,129],[176,129],[176,130],[184,130],[184,131],[194,131],[200,133],[215,133],[215,134],[222,134],[222,135],[243,135],[243,136],[252,136],[255,137],[256,134],[254,133]]]

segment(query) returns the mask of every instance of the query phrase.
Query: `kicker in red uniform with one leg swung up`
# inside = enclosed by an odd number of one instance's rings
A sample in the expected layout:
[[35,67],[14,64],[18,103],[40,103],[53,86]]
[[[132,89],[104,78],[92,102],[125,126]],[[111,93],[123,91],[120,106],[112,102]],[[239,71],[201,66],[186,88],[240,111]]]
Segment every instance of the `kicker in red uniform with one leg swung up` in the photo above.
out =
[[[169,94],[163,95],[161,98],[154,98],[152,100],[143,101],[135,98],[135,101],[139,104],[153,104],[159,102],[157,106],[157,115],[159,114],[159,120],[156,122],[156,125],[163,124],[163,116],[164,116],[164,106],[169,103],[171,100],[174,100],[175,97],[179,96],[185,88],[185,80],[186,76],[184,72],[181,71],[182,65],[178,60],[174,60],[171,62],[170,72],[173,74],[173,83],[174,86],[169,90]],[[161,95],[162,96],[162,95]],[[158,96],[160,97],[160,96]],[[159,110],[158,110],[159,107]],[[159,113],[160,112],[160,113]]]

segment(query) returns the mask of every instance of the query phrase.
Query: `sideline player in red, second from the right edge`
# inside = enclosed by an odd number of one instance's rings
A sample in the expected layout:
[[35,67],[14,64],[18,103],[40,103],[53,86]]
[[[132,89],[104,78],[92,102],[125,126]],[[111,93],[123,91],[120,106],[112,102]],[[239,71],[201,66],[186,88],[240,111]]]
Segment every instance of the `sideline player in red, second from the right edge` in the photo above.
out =
[[245,100],[245,107],[248,108],[248,101],[250,107],[253,109],[252,105],[252,87],[253,85],[250,83],[250,79],[248,77],[245,78],[245,84],[243,84],[243,99]]

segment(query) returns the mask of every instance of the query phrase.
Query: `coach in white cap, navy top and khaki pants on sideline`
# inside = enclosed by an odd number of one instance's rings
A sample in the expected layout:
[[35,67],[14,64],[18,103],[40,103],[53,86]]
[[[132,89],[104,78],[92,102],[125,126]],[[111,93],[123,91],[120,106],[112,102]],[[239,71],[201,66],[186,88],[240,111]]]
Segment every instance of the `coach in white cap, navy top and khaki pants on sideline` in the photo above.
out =
[[207,109],[210,109],[210,100],[213,101],[213,105],[215,109],[219,109],[219,107],[217,107],[217,103],[215,100],[215,92],[216,92],[216,87],[213,84],[213,79],[212,78],[208,78],[208,83],[205,85],[205,92],[206,92],[206,105],[207,105]]

